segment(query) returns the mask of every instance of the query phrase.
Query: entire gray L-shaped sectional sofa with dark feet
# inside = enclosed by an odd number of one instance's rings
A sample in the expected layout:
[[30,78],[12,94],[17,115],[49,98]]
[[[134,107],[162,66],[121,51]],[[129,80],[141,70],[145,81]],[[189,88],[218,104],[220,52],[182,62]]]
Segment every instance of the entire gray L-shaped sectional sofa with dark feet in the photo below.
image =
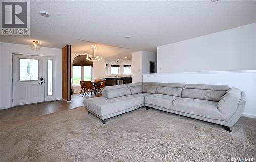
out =
[[84,107],[105,120],[142,106],[223,125],[232,131],[245,107],[245,93],[226,85],[139,82],[104,87]]

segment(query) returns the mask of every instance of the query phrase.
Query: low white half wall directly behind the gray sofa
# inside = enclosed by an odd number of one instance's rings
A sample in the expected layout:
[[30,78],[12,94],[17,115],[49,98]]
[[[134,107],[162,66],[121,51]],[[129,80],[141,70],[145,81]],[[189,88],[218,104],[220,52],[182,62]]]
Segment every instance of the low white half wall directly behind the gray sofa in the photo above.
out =
[[246,94],[243,116],[256,118],[256,70],[143,74],[143,82],[229,85]]

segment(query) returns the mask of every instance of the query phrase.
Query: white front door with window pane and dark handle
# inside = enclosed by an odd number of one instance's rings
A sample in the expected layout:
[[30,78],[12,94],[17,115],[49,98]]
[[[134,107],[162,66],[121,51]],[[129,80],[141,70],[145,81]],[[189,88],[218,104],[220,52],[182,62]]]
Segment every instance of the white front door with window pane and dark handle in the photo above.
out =
[[44,102],[44,56],[13,54],[13,106]]

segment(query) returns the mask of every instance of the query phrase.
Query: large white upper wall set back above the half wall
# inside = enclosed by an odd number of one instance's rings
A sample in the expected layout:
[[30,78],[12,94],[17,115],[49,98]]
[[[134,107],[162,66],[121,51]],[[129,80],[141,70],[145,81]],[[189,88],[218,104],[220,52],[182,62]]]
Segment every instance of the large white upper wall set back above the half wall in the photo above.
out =
[[157,47],[157,73],[256,69],[256,23]]

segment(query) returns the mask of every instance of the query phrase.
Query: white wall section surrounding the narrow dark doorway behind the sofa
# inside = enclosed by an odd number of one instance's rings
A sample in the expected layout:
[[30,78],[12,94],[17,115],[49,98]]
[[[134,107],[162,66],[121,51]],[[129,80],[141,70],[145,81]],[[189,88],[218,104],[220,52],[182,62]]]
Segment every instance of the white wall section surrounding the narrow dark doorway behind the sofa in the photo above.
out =
[[150,73],[150,61],[155,62],[155,73],[157,72],[157,53],[142,51],[142,73]]

